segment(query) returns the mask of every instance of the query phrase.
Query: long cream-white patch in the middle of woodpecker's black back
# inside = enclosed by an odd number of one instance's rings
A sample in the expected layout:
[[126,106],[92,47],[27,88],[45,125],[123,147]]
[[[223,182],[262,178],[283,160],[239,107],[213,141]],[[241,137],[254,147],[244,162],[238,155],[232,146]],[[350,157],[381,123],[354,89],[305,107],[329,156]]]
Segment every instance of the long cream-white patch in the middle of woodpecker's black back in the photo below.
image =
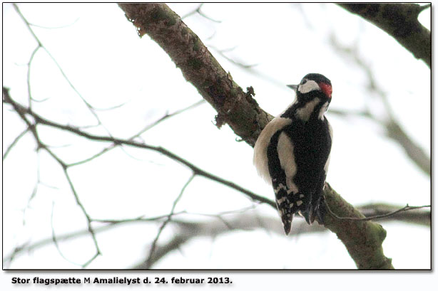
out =
[[297,185],[293,182],[295,174],[297,174],[297,163],[293,154],[294,146],[292,141],[285,132],[280,133],[278,137],[277,152],[280,159],[280,166],[286,174],[287,193],[298,193]]

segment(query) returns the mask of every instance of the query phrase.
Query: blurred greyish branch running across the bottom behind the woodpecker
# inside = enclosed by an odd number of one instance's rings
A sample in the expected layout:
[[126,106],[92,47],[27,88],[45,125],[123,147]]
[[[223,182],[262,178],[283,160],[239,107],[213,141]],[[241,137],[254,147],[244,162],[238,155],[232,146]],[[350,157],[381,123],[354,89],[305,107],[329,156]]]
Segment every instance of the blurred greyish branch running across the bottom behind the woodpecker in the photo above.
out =
[[[394,209],[400,208],[399,206],[387,205],[387,204],[369,204],[365,206],[358,206],[358,209],[365,216],[377,215],[380,213],[387,213],[389,211],[394,211]],[[247,209],[249,210],[249,209]],[[164,255],[168,254],[170,251],[179,248],[185,242],[190,241],[192,238],[196,238],[199,236],[219,236],[223,229],[223,233],[228,233],[229,230],[257,230],[264,229],[269,233],[275,233],[278,236],[284,236],[284,231],[282,230],[281,223],[278,218],[270,217],[270,216],[258,216],[257,213],[252,215],[252,213],[248,213],[246,211],[226,211],[223,213],[218,213],[216,215],[213,214],[202,214],[202,213],[188,213],[186,211],[179,211],[173,213],[173,217],[180,216],[181,214],[190,214],[190,215],[199,215],[199,216],[208,216],[212,219],[204,222],[200,221],[187,221],[187,220],[178,220],[173,218],[170,223],[177,226],[177,232],[173,238],[161,245],[157,245],[155,253],[151,258],[151,266],[155,264],[158,260],[163,258]],[[225,217],[226,216],[226,220]],[[412,211],[403,211],[401,213],[397,213],[394,216],[390,216],[385,218],[385,221],[404,221],[409,223],[417,223],[419,225],[430,226],[430,211],[421,211],[421,210],[412,210]],[[129,223],[153,223],[156,221],[161,221],[163,219],[167,219],[168,214],[162,216],[154,216],[154,217],[145,217],[139,216],[136,218],[127,218],[127,219],[93,219],[93,222],[96,223],[105,223],[103,226],[96,227],[94,229],[95,233],[101,233],[103,231],[110,231],[117,226],[123,226]],[[210,229],[210,233],[207,231]],[[218,231],[215,231],[218,229]],[[227,231],[228,229],[228,231]],[[198,230],[198,231],[193,231]],[[213,231],[211,231],[213,230]],[[188,232],[189,231],[189,232]],[[293,238],[297,234],[304,233],[315,233],[320,231],[327,231],[327,228],[323,226],[315,225],[315,226],[307,226],[304,220],[294,221],[294,228],[292,228],[292,236]],[[64,240],[73,240],[75,238],[80,238],[81,236],[88,236],[88,229],[84,229],[82,231],[74,231],[72,233],[66,233],[63,235],[56,236],[56,240],[58,242]],[[27,253],[34,251],[38,248],[43,248],[46,245],[53,243],[52,238],[45,238],[42,240],[35,241],[33,243],[24,243],[22,245],[18,245],[14,250],[9,254],[5,255],[3,262],[11,263],[12,260],[17,255],[22,253]],[[146,262],[146,260],[145,260]],[[145,269],[144,263],[137,265],[136,268]],[[121,267],[122,268],[122,267]]]

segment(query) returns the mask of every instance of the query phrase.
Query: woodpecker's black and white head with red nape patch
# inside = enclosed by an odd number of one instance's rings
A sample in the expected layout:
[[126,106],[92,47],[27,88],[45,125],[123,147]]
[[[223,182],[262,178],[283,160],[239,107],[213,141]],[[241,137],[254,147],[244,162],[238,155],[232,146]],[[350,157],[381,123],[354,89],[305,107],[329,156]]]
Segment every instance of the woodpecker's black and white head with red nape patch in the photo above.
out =
[[319,97],[324,102],[332,100],[332,83],[324,75],[310,73],[302,78],[298,85],[287,85],[297,93],[298,101],[312,100]]

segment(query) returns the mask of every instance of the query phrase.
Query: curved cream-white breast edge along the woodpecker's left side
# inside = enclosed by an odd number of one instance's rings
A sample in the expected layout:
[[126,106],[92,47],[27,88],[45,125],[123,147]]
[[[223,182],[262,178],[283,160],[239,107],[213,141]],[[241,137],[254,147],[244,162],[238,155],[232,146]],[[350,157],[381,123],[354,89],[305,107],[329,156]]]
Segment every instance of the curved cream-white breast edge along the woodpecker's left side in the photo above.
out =
[[268,145],[270,139],[275,132],[291,123],[292,120],[289,118],[275,117],[265,126],[262,132],[260,132],[257,142],[255,142],[253,163],[258,174],[270,185],[272,184],[268,168]]

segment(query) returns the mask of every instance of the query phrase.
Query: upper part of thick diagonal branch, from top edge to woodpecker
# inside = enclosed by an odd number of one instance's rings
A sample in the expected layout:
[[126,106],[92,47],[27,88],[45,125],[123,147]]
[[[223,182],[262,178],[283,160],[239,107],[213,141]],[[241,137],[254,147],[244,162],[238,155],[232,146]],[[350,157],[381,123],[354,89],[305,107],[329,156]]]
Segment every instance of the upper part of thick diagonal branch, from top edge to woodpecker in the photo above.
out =
[[138,35],[148,33],[181,69],[184,78],[215,108],[216,125],[228,123],[235,134],[253,146],[270,115],[243,92],[181,18],[165,4],[119,6],[136,26]]

